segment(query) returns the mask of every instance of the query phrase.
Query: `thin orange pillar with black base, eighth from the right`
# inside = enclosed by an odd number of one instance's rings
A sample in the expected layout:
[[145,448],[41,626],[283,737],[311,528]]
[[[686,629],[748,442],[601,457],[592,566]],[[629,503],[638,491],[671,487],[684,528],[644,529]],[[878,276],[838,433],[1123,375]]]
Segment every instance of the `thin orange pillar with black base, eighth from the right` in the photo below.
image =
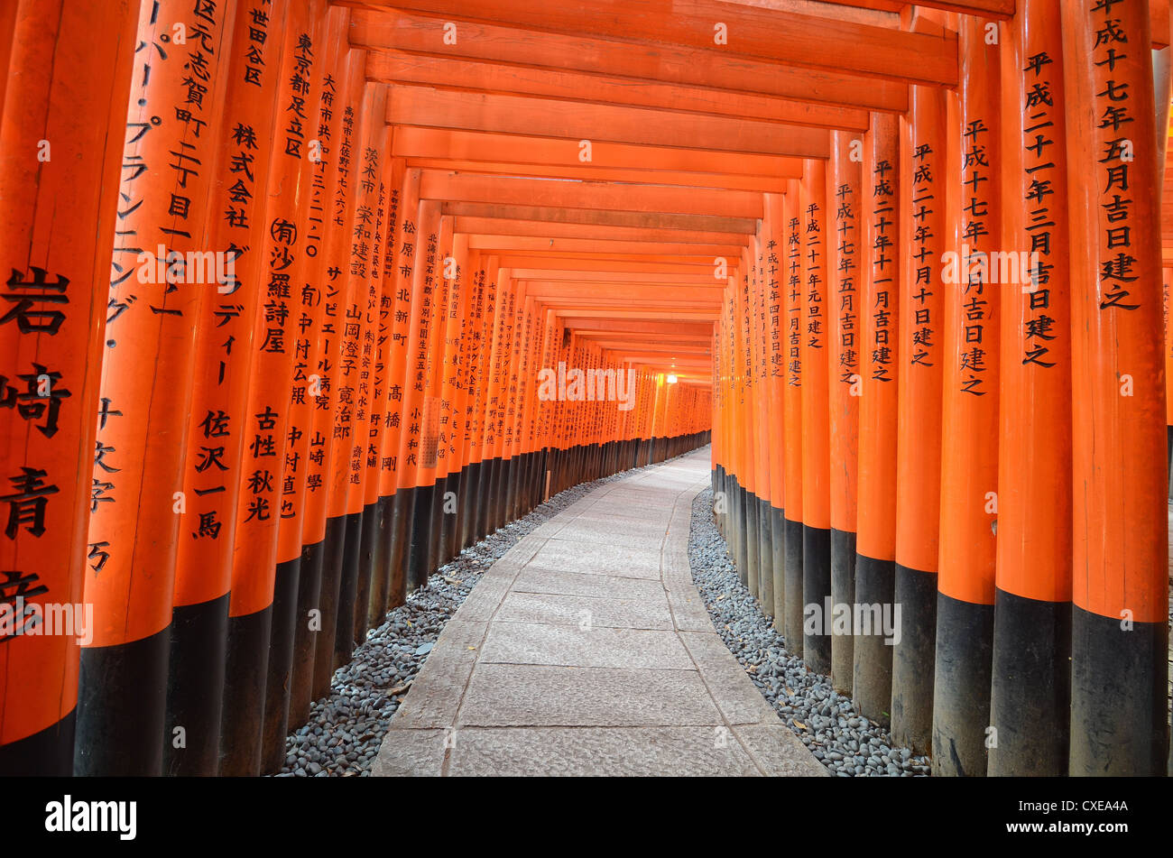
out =
[[786,536],[786,645],[802,658],[802,236],[799,182],[787,179],[782,199],[786,226],[786,393],[782,397],[786,440],[782,471],[786,488],[784,508]]

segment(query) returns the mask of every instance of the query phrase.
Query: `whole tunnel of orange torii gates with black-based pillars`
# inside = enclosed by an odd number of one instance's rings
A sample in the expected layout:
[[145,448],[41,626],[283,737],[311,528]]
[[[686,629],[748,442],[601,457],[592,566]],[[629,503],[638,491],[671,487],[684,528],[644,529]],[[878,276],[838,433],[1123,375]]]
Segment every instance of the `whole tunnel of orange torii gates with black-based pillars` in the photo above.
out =
[[446,560],[711,442],[743,581],[936,774],[1164,774],[1169,28],[2,4],[0,771],[276,771]]

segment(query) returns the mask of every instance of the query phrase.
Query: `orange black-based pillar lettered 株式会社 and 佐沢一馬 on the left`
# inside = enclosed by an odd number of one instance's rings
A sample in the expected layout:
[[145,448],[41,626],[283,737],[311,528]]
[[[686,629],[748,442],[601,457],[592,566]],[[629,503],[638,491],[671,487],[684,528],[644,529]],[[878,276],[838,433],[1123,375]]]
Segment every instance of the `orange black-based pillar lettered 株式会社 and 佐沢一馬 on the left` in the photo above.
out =
[[[245,397],[252,365],[264,241],[256,199],[267,182],[284,2],[237,2],[226,54],[224,97],[211,142],[213,181],[202,246],[223,259],[219,285],[197,324],[188,451],[187,508],[179,513],[168,660],[164,770],[215,775],[228,646],[229,590],[239,496]],[[195,218],[192,218],[195,220]],[[228,267],[228,264],[231,267]]]

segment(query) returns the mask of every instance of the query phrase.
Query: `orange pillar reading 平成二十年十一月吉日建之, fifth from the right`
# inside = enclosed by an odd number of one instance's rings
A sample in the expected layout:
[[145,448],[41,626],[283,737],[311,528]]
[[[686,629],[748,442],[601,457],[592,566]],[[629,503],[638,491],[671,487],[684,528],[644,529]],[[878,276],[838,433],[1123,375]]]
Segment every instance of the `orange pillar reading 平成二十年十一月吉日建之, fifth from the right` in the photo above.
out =
[[[854,602],[893,608],[896,551],[896,390],[900,306],[900,120],[872,114],[863,141],[863,218],[859,331],[859,484]],[[862,608],[861,608],[862,610]],[[872,618],[876,615],[869,614]],[[853,620],[854,621],[854,620]],[[891,645],[899,627],[869,621],[853,629],[852,695],[860,711],[887,724],[891,711]]]

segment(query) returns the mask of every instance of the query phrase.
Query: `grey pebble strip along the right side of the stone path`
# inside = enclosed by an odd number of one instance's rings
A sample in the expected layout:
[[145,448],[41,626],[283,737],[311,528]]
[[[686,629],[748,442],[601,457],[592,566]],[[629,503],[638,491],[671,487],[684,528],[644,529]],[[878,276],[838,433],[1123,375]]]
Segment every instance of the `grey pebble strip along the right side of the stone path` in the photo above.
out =
[[929,758],[893,745],[880,724],[859,711],[849,697],[830,687],[830,677],[812,673],[787,652],[757,599],[741,584],[713,522],[712,489],[692,504],[689,532],[692,579],[708,608],[713,627],[746,669],[778,717],[815,758],[840,777],[857,775],[927,776]]

